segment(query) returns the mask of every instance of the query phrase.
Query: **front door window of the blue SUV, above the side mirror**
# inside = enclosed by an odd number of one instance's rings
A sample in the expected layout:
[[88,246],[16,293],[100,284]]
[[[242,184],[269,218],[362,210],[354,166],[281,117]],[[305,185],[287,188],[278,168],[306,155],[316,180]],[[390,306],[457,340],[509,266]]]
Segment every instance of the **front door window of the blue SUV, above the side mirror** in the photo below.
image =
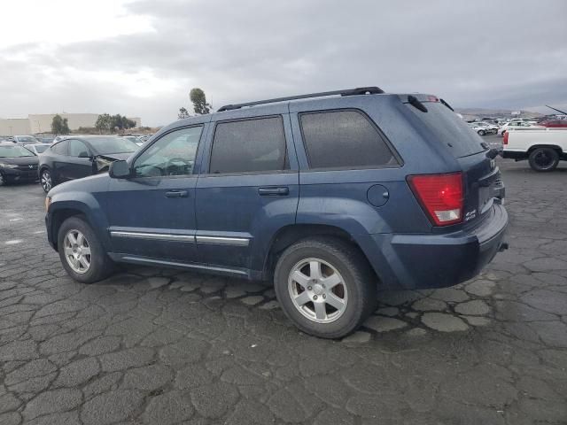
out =
[[136,158],[136,177],[192,174],[202,132],[203,126],[181,128],[161,137]]

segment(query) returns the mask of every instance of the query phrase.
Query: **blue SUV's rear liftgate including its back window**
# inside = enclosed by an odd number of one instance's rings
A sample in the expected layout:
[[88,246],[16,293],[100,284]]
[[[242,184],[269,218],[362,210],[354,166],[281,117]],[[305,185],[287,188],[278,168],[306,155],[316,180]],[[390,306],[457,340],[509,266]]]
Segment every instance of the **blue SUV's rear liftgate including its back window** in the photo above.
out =
[[420,122],[420,132],[434,148],[448,152],[462,170],[464,205],[463,222],[472,225],[504,197],[501,174],[494,158],[490,158],[482,139],[436,97],[422,100],[427,112],[406,104]]

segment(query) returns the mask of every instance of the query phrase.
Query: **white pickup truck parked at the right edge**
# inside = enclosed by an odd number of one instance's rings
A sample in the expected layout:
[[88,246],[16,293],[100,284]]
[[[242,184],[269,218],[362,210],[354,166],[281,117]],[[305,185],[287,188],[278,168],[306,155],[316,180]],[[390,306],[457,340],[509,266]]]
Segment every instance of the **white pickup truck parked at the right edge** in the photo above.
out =
[[509,128],[502,147],[504,158],[527,159],[533,170],[551,171],[567,160],[567,128]]

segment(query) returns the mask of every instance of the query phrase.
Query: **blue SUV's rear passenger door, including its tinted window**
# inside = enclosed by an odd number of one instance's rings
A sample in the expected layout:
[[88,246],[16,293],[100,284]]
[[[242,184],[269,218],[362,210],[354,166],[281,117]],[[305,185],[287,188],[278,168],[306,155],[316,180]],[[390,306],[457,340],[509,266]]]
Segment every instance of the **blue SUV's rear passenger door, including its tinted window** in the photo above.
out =
[[289,117],[217,121],[208,139],[197,185],[199,258],[240,273],[260,271],[277,229],[295,222],[299,172],[289,155]]

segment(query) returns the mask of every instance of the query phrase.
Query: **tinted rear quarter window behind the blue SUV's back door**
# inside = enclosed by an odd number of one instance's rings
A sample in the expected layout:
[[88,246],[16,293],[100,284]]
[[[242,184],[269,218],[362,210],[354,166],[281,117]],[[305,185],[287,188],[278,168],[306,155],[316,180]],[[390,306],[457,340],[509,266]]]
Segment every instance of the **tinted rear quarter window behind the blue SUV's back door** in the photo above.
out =
[[361,112],[302,113],[299,117],[311,168],[399,165],[384,137]]

